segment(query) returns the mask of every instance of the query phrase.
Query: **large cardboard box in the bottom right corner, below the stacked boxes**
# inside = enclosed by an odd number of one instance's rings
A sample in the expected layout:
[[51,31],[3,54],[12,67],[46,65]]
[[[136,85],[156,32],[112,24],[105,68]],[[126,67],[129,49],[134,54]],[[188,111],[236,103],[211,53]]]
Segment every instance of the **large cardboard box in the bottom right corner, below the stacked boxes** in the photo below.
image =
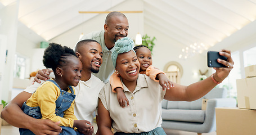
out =
[[256,110],[215,108],[217,135],[256,134]]

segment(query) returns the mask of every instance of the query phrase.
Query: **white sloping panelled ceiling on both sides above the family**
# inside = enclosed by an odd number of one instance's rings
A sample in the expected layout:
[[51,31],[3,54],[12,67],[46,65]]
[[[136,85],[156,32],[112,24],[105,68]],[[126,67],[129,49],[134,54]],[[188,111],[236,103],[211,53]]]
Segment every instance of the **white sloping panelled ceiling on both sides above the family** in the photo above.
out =
[[[98,15],[88,13],[81,19],[78,11],[107,11],[122,2],[20,0],[19,21],[51,40]],[[181,44],[214,46],[256,19],[256,0],[143,0],[143,15],[146,25]]]

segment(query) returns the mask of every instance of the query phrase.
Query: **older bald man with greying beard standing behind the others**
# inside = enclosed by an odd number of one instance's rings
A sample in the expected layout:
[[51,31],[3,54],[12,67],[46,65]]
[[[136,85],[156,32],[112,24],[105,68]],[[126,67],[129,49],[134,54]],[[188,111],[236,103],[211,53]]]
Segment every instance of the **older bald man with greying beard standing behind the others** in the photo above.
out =
[[128,29],[128,19],[123,13],[110,12],[106,17],[104,30],[86,34],[80,39],[94,39],[101,44],[103,62],[100,71],[94,75],[104,83],[109,82],[109,78],[115,70],[111,60],[111,53],[114,51],[115,42],[118,39],[127,37]]

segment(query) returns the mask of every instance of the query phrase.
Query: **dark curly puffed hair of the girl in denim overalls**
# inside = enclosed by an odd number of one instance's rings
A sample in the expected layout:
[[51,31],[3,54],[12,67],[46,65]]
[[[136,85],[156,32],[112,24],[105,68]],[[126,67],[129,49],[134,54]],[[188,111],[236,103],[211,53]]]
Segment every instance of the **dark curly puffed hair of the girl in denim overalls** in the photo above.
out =
[[75,52],[69,47],[62,47],[60,44],[50,43],[49,47],[46,48],[43,55],[43,65],[46,68],[52,68],[53,71],[62,63],[65,64],[66,58],[69,56],[75,56]]

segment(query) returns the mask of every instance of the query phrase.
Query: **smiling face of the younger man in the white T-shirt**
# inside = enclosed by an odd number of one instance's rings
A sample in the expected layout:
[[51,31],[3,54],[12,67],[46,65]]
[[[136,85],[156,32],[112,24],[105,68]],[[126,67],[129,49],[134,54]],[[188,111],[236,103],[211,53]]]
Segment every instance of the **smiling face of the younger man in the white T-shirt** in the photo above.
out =
[[79,48],[77,55],[82,61],[83,70],[98,73],[102,63],[102,50],[97,42],[89,42]]

